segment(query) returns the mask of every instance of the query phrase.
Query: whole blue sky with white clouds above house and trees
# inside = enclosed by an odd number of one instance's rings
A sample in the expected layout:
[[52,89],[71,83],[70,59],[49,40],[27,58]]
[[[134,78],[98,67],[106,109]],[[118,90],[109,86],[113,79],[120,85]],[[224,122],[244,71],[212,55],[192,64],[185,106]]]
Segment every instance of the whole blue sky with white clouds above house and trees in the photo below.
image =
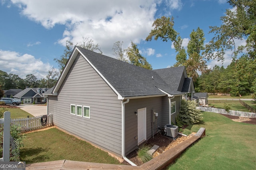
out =
[[[225,0],[0,0],[0,70],[25,78],[34,74],[44,78],[54,58],[65,49],[66,40],[74,44],[89,37],[104,55],[114,57],[113,44],[131,41],[153,69],[176,63],[172,42],[144,41],[161,16],[174,17],[174,29],[186,47],[191,31],[203,29],[207,43],[214,36],[209,26],[219,26],[220,17],[231,8]],[[230,63],[230,51],[223,65]],[[212,68],[216,60],[208,62]]]

